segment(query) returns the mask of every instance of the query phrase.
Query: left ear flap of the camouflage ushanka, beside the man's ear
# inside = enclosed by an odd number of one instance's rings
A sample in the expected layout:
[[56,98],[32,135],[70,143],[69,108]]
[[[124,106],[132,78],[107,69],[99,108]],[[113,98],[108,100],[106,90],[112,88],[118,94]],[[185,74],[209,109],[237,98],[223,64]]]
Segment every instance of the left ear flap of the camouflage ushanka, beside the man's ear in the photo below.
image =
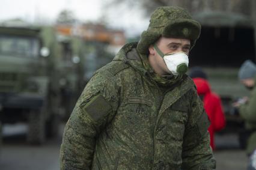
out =
[[156,31],[143,31],[141,34],[141,40],[137,45],[137,50],[141,54],[148,54],[148,47],[156,42],[161,37]]

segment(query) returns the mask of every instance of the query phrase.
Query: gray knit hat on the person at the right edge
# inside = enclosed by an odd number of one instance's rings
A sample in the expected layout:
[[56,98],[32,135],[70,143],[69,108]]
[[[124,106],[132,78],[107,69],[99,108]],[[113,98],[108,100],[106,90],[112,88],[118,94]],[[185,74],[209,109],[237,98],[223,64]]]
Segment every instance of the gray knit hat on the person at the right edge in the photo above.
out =
[[256,65],[251,60],[246,60],[240,67],[238,77],[240,80],[254,78],[256,74]]

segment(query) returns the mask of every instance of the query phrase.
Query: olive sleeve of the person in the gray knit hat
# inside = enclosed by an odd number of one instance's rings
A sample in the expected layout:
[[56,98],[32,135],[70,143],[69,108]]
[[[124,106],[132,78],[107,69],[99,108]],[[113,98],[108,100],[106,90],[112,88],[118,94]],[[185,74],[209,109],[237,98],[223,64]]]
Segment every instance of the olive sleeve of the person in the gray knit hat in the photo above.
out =
[[256,121],[256,89],[252,91],[249,101],[240,106],[239,113],[248,122]]

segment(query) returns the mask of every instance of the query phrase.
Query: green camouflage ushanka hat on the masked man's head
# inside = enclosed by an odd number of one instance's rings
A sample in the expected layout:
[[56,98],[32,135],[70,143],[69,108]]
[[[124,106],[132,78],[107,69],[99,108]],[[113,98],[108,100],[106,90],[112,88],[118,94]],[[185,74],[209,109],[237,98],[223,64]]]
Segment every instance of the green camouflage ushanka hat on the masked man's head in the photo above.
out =
[[148,54],[150,44],[161,36],[186,38],[191,47],[200,36],[201,25],[193,20],[190,14],[180,7],[159,7],[151,14],[147,31],[142,32],[137,49],[139,53]]

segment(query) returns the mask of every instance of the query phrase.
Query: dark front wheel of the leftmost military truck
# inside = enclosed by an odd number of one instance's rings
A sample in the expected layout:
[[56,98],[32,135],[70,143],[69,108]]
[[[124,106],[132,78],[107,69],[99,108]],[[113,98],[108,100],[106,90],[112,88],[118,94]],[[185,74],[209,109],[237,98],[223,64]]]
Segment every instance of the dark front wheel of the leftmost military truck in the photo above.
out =
[[43,144],[45,141],[45,121],[43,109],[32,110],[28,116],[28,135],[29,144]]

